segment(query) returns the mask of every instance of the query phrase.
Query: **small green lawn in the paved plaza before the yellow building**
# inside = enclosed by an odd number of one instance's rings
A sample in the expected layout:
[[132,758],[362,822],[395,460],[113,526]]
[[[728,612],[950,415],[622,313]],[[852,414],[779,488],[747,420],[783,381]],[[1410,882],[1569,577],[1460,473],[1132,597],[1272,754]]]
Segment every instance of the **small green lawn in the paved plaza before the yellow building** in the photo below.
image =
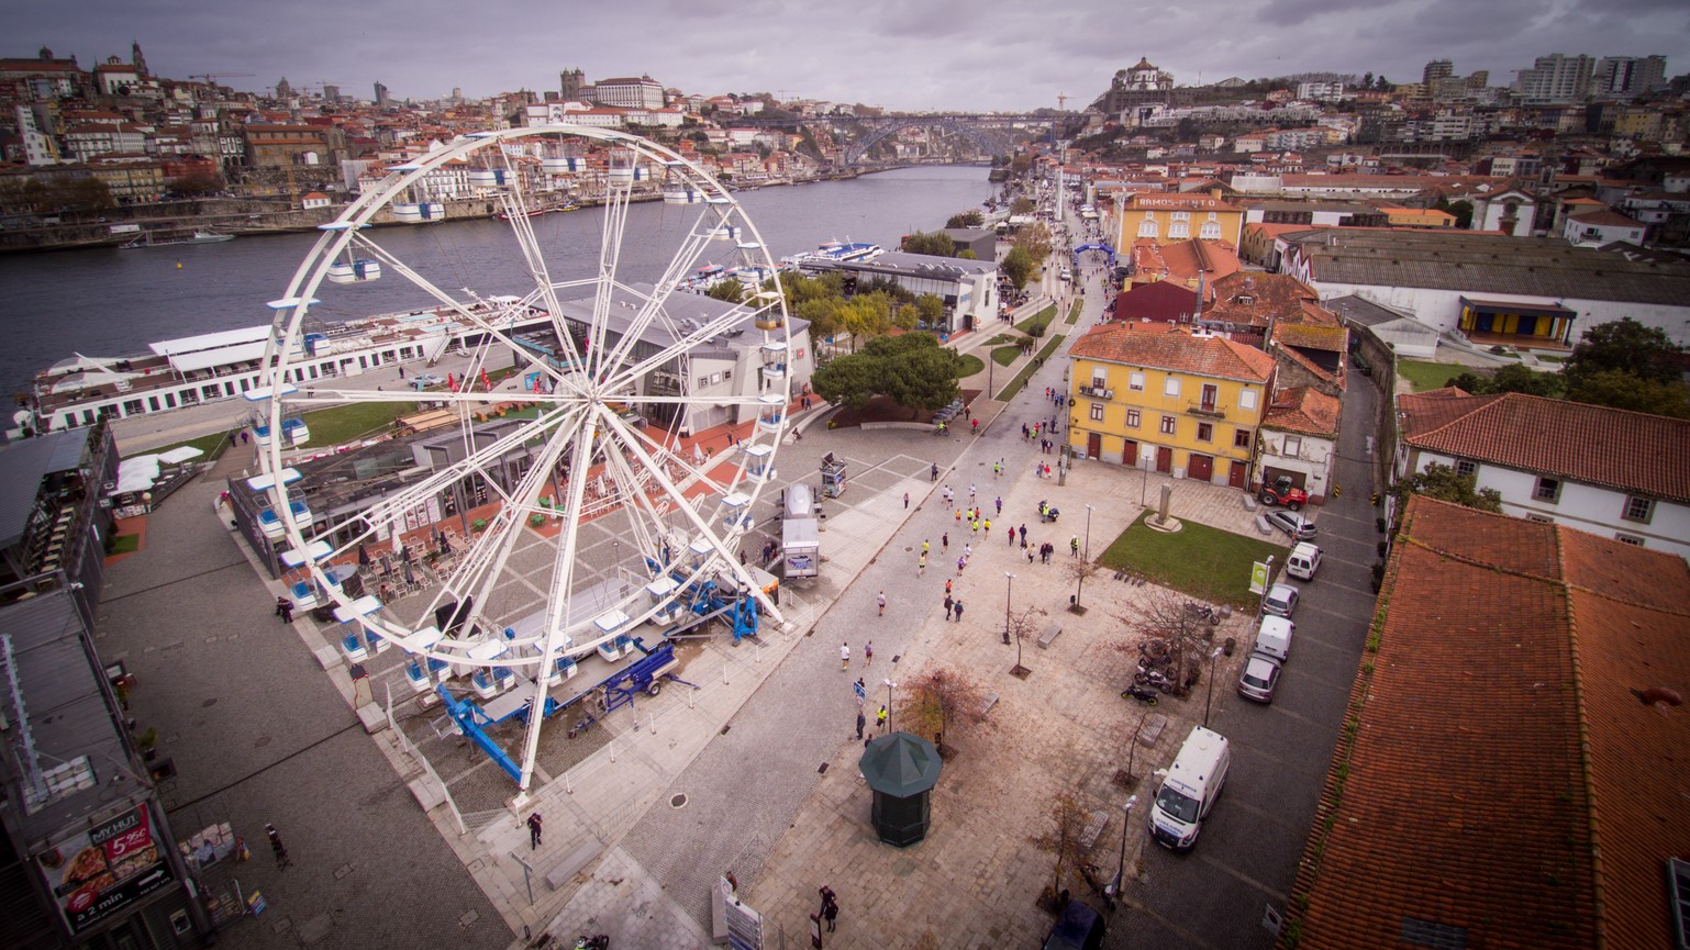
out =
[[1097,563],[1109,570],[1131,570],[1149,580],[1212,603],[1237,609],[1256,605],[1251,593],[1251,565],[1269,554],[1284,561],[1284,548],[1256,538],[1232,534],[1186,521],[1176,534],[1163,534],[1144,526],[1154,512],[1146,510],[1120,532]]

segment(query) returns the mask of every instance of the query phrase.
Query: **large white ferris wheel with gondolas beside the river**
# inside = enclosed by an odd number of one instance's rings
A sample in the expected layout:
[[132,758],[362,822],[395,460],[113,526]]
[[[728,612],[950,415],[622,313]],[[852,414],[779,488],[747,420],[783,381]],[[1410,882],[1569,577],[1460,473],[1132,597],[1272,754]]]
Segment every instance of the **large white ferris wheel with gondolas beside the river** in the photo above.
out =
[[[497,205],[519,286],[455,289],[473,279],[461,260],[406,259],[394,250],[404,242],[384,235],[416,228],[368,227],[438,218],[443,176],[466,177]],[[684,225],[652,248],[646,232],[630,233],[629,210],[659,194],[662,213],[684,215]],[[548,245],[544,213],[576,199],[602,201],[590,213],[602,220],[597,247]],[[419,691],[436,671],[444,680],[477,669],[529,690],[529,708],[544,708],[571,659],[629,636],[661,639],[703,612],[705,592],[718,603],[737,597],[742,609],[754,600],[764,622],[781,622],[767,576],[742,566],[740,541],[776,473],[793,341],[784,299],[760,286],[774,260],[708,172],[608,128],[482,132],[390,169],[321,230],[286,296],[269,304],[267,377],[248,394],[262,465],[248,483],[267,505],[265,532],[299,607],[330,607],[372,647],[407,651]],[[646,270],[654,254],[664,260],[656,279],[622,274],[634,242]],[[321,314],[360,313],[346,294],[375,277],[397,277],[428,301],[352,335],[411,333],[406,385],[380,367],[319,372],[321,353],[343,345]],[[742,281],[742,303],[695,292],[703,279]],[[739,353],[750,372],[722,382],[700,370],[701,352]],[[409,477],[314,504],[299,472],[311,448],[303,412],[375,406],[399,416],[419,401],[428,431],[416,438],[428,451]],[[733,440],[698,443],[725,423],[737,423]],[[422,465],[422,455],[438,461]],[[392,585],[348,592],[348,566],[368,573],[375,560],[382,576],[404,561],[406,583],[395,568]],[[541,722],[527,717],[524,791]]]

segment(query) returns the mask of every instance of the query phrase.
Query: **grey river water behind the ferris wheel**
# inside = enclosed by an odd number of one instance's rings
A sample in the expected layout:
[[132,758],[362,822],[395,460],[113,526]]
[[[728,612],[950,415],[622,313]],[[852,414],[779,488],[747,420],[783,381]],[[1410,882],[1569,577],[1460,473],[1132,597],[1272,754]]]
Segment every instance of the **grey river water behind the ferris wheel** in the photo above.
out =
[[[945,227],[957,211],[992,194],[985,167],[923,166],[850,181],[762,188],[737,194],[771,254],[811,250],[828,240],[896,248],[899,237]],[[656,281],[698,206],[657,201],[629,211],[619,274]],[[603,213],[597,208],[532,218],[554,279],[592,272]],[[504,221],[466,220],[382,228],[375,240],[451,292],[522,294],[534,284]],[[225,243],[140,250],[68,250],[0,257],[0,392],[22,392],[37,370],[73,353],[118,357],[147,343],[270,321],[265,301],[287,282],[319,235],[242,237]],[[722,245],[727,247],[725,243]],[[713,262],[705,257],[703,262]],[[722,259],[720,264],[733,264]],[[350,319],[428,306],[395,274],[335,287],[313,313]]]

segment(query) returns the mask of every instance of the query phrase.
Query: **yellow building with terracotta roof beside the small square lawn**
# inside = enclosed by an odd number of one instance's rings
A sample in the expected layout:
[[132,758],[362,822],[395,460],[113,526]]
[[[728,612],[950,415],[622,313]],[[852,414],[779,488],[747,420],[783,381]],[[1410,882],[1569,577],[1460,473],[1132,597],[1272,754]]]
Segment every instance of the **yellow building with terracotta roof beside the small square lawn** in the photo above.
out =
[[1068,445],[1087,458],[1247,489],[1274,360],[1166,323],[1105,323],[1070,352]]

